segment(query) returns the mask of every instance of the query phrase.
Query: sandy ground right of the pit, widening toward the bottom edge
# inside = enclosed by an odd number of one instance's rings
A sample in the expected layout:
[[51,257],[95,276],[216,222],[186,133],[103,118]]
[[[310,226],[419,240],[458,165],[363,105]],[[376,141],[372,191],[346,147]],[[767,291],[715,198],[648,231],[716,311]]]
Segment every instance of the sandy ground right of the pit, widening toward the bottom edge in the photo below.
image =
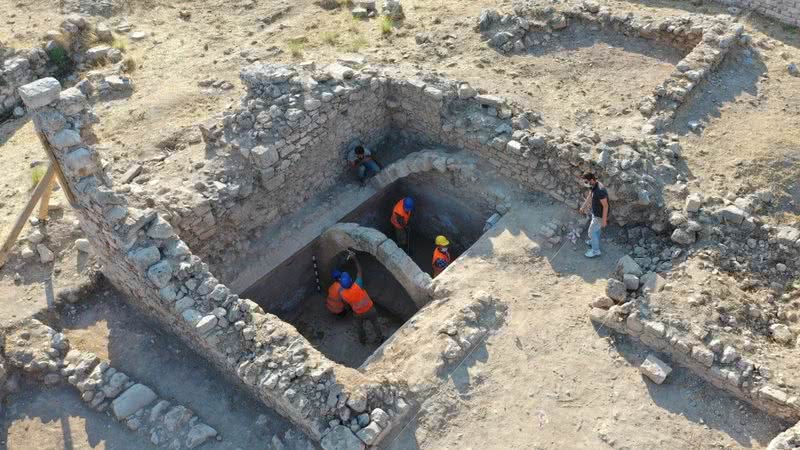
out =
[[589,323],[588,303],[625,250],[613,227],[601,259],[587,261],[582,242],[542,245],[539,227],[571,214],[547,200],[515,208],[442,275],[464,295],[498,296],[508,318],[388,448],[766,447],[787,424],[679,367],[653,384],[638,370],[645,348]]

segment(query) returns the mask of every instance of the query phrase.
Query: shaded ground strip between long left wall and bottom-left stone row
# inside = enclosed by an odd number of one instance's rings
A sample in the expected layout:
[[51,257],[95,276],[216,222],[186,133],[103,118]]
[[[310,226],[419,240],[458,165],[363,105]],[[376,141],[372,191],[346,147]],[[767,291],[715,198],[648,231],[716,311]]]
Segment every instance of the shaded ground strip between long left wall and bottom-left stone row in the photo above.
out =
[[[292,427],[254,399],[240,381],[226,377],[180,338],[149,321],[108,281],[80,303],[62,306],[60,313],[58,321],[49,324],[67,335],[72,348],[108,359],[160,397],[195,411],[223,435],[226,448],[261,448],[265,437],[268,442],[269,436],[283,436]],[[265,423],[256,423],[262,415]],[[113,426],[135,434],[124,424]]]

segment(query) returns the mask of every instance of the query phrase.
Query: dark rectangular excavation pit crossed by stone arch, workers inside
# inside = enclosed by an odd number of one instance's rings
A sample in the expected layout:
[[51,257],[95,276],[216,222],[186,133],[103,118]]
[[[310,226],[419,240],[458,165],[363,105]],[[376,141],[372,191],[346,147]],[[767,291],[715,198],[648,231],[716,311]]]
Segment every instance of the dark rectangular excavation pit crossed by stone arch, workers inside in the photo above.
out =
[[[407,282],[419,280],[420,277],[427,280],[420,289],[413,291],[415,298],[378,257],[367,251],[356,252],[363,271],[364,288],[375,302],[381,331],[387,339],[428,301],[435,237],[443,234],[450,239],[455,261],[478,240],[487,219],[493,214],[493,210],[482,201],[472,201],[470,204],[467,195],[456,192],[447,180],[426,177],[412,175],[393,183],[343,219],[358,232],[366,231],[375,236],[382,233],[385,236],[378,239],[392,240],[389,217],[394,204],[405,196],[415,199],[416,206],[411,219],[410,261],[413,263],[409,264],[416,267],[411,267],[410,273],[403,273]],[[340,317],[331,314],[325,307],[331,269],[338,267],[352,275],[356,274],[355,263],[345,258],[345,249],[333,244],[335,240],[326,236],[323,233],[264,275],[242,295],[292,324],[332,361],[348,367],[359,367],[381,342],[372,326],[367,325],[367,343],[360,343],[352,311]],[[394,248],[393,244],[387,244]],[[319,284],[315,261],[318,262]],[[408,268],[408,264],[403,266],[404,272],[409,272]]]

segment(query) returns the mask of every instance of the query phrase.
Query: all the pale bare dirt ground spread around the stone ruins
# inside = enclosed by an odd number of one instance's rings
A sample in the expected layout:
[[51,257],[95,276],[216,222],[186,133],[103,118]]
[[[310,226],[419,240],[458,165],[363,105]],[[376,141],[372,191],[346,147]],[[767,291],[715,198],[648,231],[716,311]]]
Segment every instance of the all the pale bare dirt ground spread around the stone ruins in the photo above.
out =
[[[16,48],[37,43],[63,18],[54,3],[0,0],[0,10],[10,12],[0,41]],[[602,3],[652,17],[725,12],[666,0]],[[195,125],[238,102],[239,70],[252,61],[322,65],[359,52],[409,74],[469,81],[530,105],[550,126],[628,132],[641,124],[638,100],[681,56],[646,41],[572,27],[540,52],[504,56],[481,42],[474,25],[481,8],[508,9],[509,1],[405,0],[407,18],[387,37],[373,19],[354,21],[345,10],[325,11],[311,0],[126,4],[108,22],[124,19],[149,37],[129,42],[138,62],[136,89],[129,98],[96,105],[102,122],[96,131],[109,146],[103,154],[112,177],[142,164],[134,183],[152,195],[202,174],[206,154]],[[181,10],[191,18],[180,19]],[[773,219],[797,223],[800,78],[790,77],[786,66],[800,63],[800,33],[756,16],[742,22],[758,52],[734,52],[679,110],[671,132],[680,138],[692,178],[708,193],[769,189],[781,199]],[[431,33],[435,44],[418,45],[417,33]],[[301,36],[307,42],[293,56],[287,42]],[[198,86],[208,79],[234,87]],[[690,121],[701,122],[703,131],[688,131]],[[32,190],[32,164],[44,159],[27,118],[0,124],[0,230],[22,209]],[[86,280],[91,260],[75,249],[74,215],[60,193],[55,198],[61,207],[47,224],[45,243],[56,260],[41,264],[38,257],[23,260],[18,249],[12,254],[0,269],[3,324],[46,309],[59,290]],[[585,262],[581,246],[569,244],[557,255],[557,249],[538,249],[531,230],[545,212],[561,210],[547,209],[546,202],[536,208],[509,219],[491,239],[490,255],[467,261],[459,275],[466,290],[485,279],[475,271],[491,271],[490,285],[510,308],[507,323],[453,372],[391,448],[762,448],[786,428],[680,368],[661,386],[642,379],[637,367],[646,350],[595,329],[586,318],[587,303],[603,291],[602,280],[627,250],[607,239],[604,257]],[[615,230],[608,232],[613,237]],[[160,395],[193,408],[223,436],[215,448],[265,448],[265,436],[289,427],[138,317],[120,294],[102,289],[68,308],[60,325],[73,346],[109,358]],[[161,370],[165,365],[174,371]],[[69,388],[23,383],[3,411],[0,447],[147,445],[85,408]],[[266,425],[256,425],[261,414]]]

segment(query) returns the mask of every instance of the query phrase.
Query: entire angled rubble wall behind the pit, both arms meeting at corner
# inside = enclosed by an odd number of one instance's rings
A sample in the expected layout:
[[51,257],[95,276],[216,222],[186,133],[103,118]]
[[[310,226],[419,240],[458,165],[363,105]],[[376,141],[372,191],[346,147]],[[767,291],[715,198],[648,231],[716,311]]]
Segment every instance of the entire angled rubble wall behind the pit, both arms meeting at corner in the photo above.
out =
[[242,80],[248,93],[241,107],[201,127],[225,167],[194,190],[158,201],[194,251],[215,264],[225,253],[231,258],[231,248],[246,250],[248,231],[346,177],[351,143],[374,145],[388,134],[419,148],[466,150],[518,187],[573,206],[583,195],[578,175],[593,171],[609,189],[618,223],[665,223],[662,187],[683,177],[677,142],[553,129],[538,113],[435,76],[258,64],[243,69]]

